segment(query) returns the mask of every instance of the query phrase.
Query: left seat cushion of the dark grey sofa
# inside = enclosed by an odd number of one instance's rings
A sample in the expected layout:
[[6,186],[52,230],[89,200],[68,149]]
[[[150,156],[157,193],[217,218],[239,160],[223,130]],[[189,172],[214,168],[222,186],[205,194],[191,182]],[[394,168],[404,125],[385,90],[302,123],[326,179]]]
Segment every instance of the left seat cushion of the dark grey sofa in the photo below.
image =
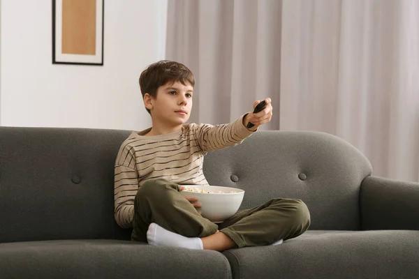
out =
[[118,240],[0,243],[1,278],[231,278],[220,252]]

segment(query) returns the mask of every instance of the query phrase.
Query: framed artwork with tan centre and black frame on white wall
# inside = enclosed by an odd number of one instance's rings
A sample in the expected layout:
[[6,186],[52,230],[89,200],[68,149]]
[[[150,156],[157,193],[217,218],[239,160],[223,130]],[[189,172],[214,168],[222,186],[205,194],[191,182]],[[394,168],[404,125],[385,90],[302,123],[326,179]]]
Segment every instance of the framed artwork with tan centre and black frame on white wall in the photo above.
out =
[[105,0],[52,0],[52,63],[103,66]]

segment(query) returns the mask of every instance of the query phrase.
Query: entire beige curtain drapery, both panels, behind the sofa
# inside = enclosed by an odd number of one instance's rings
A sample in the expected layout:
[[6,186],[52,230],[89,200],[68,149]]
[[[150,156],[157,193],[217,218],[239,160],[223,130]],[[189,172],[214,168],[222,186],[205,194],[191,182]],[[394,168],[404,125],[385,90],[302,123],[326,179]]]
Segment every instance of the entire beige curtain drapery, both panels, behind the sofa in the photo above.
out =
[[176,0],[166,56],[197,78],[193,119],[270,96],[267,130],[347,140],[374,174],[419,181],[419,1]]

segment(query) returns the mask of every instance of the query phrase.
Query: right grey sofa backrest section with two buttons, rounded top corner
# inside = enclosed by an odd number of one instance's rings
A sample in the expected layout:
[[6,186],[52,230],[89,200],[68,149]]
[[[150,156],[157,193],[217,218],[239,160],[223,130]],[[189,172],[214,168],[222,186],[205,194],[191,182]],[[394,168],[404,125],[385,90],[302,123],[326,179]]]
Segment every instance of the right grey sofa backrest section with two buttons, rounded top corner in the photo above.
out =
[[204,173],[212,185],[245,190],[241,209],[268,199],[302,199],[309,229],[360,229],[360,183],[369,160],[334,135],[310,131],[258,132],[237,146],[213,151]]

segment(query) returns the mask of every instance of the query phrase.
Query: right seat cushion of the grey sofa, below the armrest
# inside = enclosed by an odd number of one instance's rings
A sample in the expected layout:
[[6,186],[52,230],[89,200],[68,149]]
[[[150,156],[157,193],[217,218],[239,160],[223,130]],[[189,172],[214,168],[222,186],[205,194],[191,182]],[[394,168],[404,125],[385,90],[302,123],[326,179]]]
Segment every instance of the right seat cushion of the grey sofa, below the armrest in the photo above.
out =
[[223,252],[233,278],[419,278],[419,231],[307,231]]

